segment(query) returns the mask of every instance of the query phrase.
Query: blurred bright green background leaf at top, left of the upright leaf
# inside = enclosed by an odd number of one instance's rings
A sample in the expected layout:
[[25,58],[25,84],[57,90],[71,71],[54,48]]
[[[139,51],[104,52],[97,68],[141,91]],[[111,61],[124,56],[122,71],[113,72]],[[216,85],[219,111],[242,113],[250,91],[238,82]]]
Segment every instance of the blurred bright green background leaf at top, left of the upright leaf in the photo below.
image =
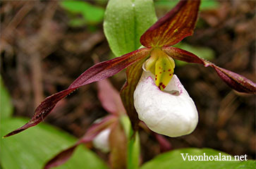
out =
[[[92,6],[86,1],[61,1],[60,5],[71,13],[83,15],[87,23],[100,23],[104,18],[104,9],[99,6]],[[78,21],[78,18],[71,23]],[[80,22],[80,24],[83,22]],[[78,23],[75,23],[78,26]]]

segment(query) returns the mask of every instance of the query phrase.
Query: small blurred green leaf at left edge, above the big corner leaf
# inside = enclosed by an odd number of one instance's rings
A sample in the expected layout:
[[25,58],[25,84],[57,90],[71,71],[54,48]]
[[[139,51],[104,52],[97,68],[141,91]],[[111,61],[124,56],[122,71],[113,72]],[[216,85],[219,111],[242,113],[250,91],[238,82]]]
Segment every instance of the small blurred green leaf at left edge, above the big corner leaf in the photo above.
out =
[[0,120],[10,118],[12,113],[13,105],[11,104],[11,98],[0,76]]

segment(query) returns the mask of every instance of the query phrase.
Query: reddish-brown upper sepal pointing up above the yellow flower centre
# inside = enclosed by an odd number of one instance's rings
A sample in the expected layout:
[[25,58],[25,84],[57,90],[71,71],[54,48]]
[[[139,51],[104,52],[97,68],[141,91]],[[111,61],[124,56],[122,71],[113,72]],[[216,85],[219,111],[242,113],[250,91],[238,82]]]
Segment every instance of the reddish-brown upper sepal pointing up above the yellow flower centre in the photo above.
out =
[[193,35],[200,0],[180,1],[140,37],[143,46],[171,46]]

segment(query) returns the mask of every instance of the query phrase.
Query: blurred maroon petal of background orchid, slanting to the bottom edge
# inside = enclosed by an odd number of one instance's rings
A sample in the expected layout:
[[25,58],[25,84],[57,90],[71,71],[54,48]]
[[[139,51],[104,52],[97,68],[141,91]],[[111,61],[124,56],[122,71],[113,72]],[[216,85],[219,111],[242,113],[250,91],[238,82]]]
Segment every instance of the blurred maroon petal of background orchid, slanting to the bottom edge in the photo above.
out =
[[93,124],[87,130],[87,132],[85,132],[84,136],[78,140],[78,142],[76,142],[73,146],[69,147],[68,149],[61,151],[59,154],[54,156],[54,158],[51,158],[51,160],[44,165],[44,169],[57,167],[63,163],[66,163],[66,161],[68,161],[68,159],[71,158],[77,146],[79,146],[80,144],[86,144],[88,142],[91,142],[97,136],[97,134],[99,134],[99,132],[102,132],[102,130],[105,130],[107,127],[110,127],[110,125],[113,124],[116,120],[116,116],[108,115],[99,123]]

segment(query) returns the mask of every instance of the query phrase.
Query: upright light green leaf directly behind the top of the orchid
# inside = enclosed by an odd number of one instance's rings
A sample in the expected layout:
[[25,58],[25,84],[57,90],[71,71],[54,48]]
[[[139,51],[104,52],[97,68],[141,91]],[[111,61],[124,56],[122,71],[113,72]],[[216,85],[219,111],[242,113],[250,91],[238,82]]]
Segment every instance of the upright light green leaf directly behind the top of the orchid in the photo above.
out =
[[140,36],[157,20],[152,0],[110,0],[104,34],[116,56],[138,49]]

